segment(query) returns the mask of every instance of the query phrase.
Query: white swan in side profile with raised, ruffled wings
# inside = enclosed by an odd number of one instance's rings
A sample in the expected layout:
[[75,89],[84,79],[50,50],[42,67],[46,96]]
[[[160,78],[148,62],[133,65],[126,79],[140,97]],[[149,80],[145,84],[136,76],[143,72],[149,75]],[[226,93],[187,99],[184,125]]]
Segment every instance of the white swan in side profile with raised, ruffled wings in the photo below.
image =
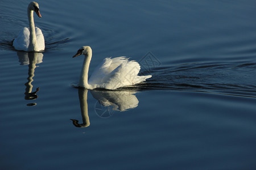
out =
[[94,88],[106,88],[114,90],[119,87],[129,86],[143,82],[151,75],[139,76],[141,66],[136,61],[129,61],[126,57],[105,58],[96,67],[88,80],[90,60],[92,59],[92,49],[90,46],[82,46],[74,57],[84,54],[84,64],[80,74],[79,87],[89,90]]

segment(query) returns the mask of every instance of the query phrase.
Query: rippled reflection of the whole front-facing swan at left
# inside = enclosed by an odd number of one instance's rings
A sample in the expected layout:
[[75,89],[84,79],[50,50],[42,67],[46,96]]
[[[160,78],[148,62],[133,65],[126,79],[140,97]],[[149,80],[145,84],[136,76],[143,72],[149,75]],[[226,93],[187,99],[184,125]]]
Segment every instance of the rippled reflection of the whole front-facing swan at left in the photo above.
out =
[[[36,64],[43,62],[43,53],[27,53],[27,52],[18,52],[20,65],[28,65],[28,78],[27,83],[25,83],[25,100],[35,100],[38,98],[36,93],[39,91],[39,87],[36,88],[36,91],[32,92],[32,82],[35,76]],[[36,105],[36,103],[29,103],[27,106]]]

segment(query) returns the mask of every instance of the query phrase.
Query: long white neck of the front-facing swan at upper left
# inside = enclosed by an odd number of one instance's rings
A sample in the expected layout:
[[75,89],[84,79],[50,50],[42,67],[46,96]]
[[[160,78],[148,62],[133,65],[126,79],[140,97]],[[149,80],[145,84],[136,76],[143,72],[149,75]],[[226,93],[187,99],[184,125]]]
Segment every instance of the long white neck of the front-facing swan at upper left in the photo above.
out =
[[28,45],[28,51],[38,51],[38,44],[36,42],[36,32],[34,23],[34,11],[27,8],[28,22],[30,24],[30,44]]

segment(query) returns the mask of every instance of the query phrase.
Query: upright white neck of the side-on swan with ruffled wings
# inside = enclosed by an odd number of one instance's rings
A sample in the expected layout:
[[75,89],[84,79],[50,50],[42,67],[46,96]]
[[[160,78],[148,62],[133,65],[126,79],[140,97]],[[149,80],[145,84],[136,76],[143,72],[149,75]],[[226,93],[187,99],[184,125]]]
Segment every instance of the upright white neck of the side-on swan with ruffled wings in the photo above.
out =
[[80,87],[90,88],[90,85],[88,84],[88,72],[89,72],[89,66],[90,66],[90,59],[92,59],[92,54],[88,54],[88,56],[84,57],[84,63],[82,64],[82,71],[79,79]]

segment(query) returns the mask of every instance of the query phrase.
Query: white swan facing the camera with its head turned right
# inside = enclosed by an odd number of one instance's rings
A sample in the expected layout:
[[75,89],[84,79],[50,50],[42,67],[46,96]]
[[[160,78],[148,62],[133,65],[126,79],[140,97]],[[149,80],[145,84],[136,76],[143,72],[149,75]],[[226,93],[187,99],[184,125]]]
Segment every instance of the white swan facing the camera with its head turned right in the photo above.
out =
[[44,50],[44,36],[34,23],[34,11],[41,18],[39,12],[39,5],[36,2],[31,2],[27,7],[28,22],[30,27],[24,27],[19,32],[18,37],[14,39],[13,46],[16,50],[23,50],[26,52],[39,52]]

